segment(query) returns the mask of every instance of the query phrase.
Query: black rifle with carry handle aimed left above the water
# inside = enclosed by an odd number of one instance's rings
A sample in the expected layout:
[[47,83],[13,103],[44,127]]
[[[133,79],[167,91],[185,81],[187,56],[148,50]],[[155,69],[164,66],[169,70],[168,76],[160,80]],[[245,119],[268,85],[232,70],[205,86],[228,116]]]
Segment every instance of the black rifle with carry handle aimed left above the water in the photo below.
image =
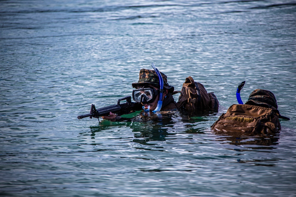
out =
[[[120,101],[126,100],[125,103],[120,104]],[[117,115],[123,115],[123,114],[128,114],[131,111],[135,110],[141,110],[141,104],[138,102],[131,102],[131,96],[123,97],[121,99],[118,99],[117,105],[110,105],[107,107],[99,108],[96,110],[96,107],[94,104],[91,104],[91,112],[86,115],[79,115],[77,118],[82,119],[82,118],[99,118],[104,115],[109,115],[110,112],[115,113]]]

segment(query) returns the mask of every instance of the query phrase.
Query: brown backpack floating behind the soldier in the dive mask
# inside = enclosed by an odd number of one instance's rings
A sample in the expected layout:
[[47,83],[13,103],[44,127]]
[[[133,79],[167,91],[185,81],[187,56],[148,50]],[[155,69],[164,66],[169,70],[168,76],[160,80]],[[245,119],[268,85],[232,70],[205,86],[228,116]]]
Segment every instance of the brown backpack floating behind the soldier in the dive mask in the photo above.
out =
[[184,108],[189,112],[194,112],[195,109],[218,109],[219,102],[213,92],[207,93],[201,83],[194,82],[193,78],[189,76],[183,83],[176,105],[178,109]]

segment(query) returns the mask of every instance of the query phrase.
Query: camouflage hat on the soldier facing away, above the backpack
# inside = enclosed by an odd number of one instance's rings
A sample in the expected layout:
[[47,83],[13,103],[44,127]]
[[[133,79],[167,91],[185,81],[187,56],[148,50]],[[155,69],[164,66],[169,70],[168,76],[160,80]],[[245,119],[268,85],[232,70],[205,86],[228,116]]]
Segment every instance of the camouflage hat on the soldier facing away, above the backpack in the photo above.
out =
[[255,89],[249,96],[247,105],[257,105],[277,109],[276,97],[272,92],[265,89]]

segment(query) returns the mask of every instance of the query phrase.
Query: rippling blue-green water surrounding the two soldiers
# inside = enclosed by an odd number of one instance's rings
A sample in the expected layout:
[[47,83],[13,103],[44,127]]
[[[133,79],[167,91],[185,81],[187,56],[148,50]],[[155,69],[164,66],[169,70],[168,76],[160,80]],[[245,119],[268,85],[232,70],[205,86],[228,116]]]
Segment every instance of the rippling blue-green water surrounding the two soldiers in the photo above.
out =
[[[289,0],[0,1],[1,196],[296,196],[295,21]],[[77,119],[152,62],[219,111]],[[211,131],[242,81],[276,95],[279,134]]]

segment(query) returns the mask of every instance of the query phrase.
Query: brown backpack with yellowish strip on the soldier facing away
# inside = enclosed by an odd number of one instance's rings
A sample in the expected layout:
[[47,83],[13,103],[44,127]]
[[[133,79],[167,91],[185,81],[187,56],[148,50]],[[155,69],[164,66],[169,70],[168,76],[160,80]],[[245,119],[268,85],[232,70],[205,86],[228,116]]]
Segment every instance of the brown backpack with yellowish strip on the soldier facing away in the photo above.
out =
[[281,129],[279,111],[255,105],[231,105],[212,125],[218,132],[273,134]]

